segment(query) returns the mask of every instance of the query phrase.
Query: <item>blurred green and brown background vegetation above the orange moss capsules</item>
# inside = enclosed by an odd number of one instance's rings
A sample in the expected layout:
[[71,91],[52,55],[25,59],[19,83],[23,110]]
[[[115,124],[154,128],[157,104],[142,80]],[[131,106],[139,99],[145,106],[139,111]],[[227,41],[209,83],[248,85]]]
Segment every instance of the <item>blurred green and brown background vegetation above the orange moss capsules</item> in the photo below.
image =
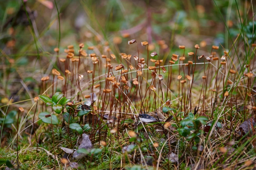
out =
[[[157,51],[168,64],[173,53],[182,54],[179,45],[185,45],[187,53],[199,44],[197,56],[209,55],[212,45],[217,45],[218,55],[223,55],[221,45],[228,50],[230,36],[235,39],[241,30],[237,7],[249,43],[255,32],[249,0],[237,1],[238,6],[235,0],[56,0],[56,4],[54,0],[1,1],[0,97],[5,99],[1,103],[10,96],[18,101],[39,93],[37,84],[55,61],[52,54],[59,36],[63,56],[68,45],[75,45],[77,51],[81,42],[85,47],[109,44],[115,54],[133,56],[137,48],[128,40],[136,39],[148,41],[149,50]],[[139,45],[139,51],[146,58],[146,48]]]

